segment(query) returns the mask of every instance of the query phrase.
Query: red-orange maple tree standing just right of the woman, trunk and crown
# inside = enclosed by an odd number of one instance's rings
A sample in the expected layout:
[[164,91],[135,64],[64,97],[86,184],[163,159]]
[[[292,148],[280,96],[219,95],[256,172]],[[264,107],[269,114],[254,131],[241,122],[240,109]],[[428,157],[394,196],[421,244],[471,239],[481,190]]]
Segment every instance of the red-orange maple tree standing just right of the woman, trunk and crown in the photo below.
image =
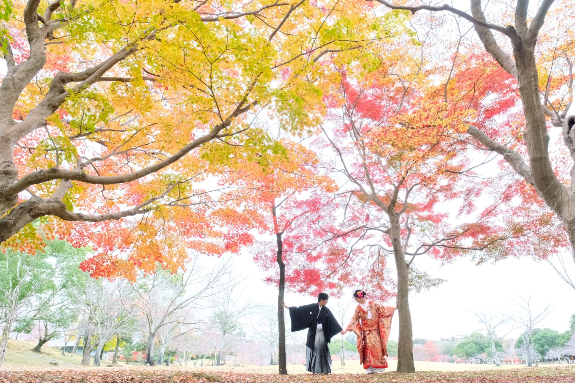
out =
[[[367,269],[363,279],[377,296],[389,281],[385,257],[394,257],[400,316],[398,371],[412,372],[408,291],[442,282],[415,268],[416,258],[427,254],[446,262],[480,251],[504,257],[530,245],[530,235],[540,234],[542,219],[539,214],[525,214],[498,222],[507,211],[505,204],[477,206],[474,199],[485,190],[462,181],[477,166],[471,166],[465,155],[467,142],[453,137],[465,133],[477,114],[481,119],[486,108],[505,105],[506,99],[489,100],[489,106],[484,106],[490,94],[490,87],[483,86],[488,79],[476,81],[469,90],[471,79],[476,80],[473,75],[454,79],[461,83],[458,87],[449,78],[437,86],[437,69],[424,60],[424,44],[416,44],[411,51],[410,41],[396,44],[381,53],[385,60],[376,71],[340,67],[341,82],[324,96],[328,118],[323,131],[336,155],[324,166],[338,171],[347,184],[338,192],[347,213],[339,230],[356,238],[331,264],[335,265],[331,273],[342,273],[339,268],[359,259],[377,265]],[[509,188],[504,200],[509,202],[519,187]],[[467,222],[457,222],[450,214],[447,206],[454,203],[460,204],[459,215],[465,214]],[[554,243],[549,236],[541,238],[541,245]],[[486,257],[480,256],[480,262]]]

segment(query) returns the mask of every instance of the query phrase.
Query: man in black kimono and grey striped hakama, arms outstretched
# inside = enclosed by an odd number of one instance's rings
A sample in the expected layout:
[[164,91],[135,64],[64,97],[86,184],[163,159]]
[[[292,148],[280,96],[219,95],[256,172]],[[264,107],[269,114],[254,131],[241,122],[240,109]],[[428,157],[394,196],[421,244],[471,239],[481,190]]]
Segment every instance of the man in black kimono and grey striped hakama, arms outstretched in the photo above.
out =
[[300,307],[289,307],[289,316],[292,319],[292,332],[308,329],[306,342],[305,366],[313,374],[331,374],[331,355],[327,344],[333,335],[342,331],[335,317],[325,307],[328,295],[320,293],[317,303],[306,304]]

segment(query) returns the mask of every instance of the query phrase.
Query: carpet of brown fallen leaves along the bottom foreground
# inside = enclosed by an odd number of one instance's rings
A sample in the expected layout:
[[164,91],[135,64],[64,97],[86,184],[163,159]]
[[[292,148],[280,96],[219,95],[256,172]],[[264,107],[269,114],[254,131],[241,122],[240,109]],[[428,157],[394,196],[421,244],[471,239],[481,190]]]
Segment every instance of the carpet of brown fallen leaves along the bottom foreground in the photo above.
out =
[[135,369],[0,369],[0,383],[556,383],[574,382],[571,366],[545,369],[512,369],[463,372],[398,374],[271,375],[254,373],[203,373],[162,367]]

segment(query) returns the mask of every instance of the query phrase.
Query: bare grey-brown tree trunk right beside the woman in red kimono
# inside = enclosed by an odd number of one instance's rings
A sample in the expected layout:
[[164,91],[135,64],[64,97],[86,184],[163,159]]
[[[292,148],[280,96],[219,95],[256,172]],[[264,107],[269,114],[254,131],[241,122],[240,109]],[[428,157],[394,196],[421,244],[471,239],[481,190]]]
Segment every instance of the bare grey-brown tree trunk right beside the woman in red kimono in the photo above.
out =
[[411,311],[409,311],[409,270],[403,249],[401,248],[401,235],[399,217],[389,215],[391,230],[390,238],[393,246],[393,256],[397,269],[397,309],[399,312],[399,340],[397,345],[397,372],[415,372],[413,363],[413,330]]

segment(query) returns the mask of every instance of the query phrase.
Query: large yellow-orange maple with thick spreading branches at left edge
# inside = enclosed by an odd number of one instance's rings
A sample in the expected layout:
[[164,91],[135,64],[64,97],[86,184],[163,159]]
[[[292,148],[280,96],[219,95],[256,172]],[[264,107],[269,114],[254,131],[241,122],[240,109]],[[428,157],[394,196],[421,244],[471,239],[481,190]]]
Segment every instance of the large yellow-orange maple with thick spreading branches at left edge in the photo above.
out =
[[249,243],[249,217],[198,183],[230,149],[251,164],[281,150],[252,124],[263,110],[294,133],[315,125],[323,60],[360,57],[394,20],[361,1],[11,5],[0,241],[36,251],[47,238],[31,226],[39,219],[48,234],[90,239],[93,276],[132,280],[156,261],[175,269],[188,248]]

